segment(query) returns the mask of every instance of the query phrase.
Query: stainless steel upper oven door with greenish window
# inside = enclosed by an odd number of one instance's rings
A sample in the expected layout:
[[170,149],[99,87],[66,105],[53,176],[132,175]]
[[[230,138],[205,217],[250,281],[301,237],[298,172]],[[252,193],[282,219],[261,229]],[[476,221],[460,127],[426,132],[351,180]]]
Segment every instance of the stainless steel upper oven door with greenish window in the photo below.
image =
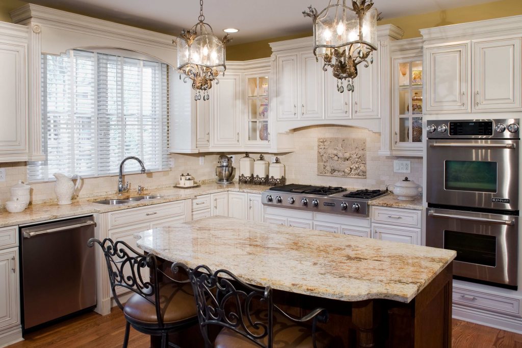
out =
[[520,140],[429,139],[428,203],[518,210]]

